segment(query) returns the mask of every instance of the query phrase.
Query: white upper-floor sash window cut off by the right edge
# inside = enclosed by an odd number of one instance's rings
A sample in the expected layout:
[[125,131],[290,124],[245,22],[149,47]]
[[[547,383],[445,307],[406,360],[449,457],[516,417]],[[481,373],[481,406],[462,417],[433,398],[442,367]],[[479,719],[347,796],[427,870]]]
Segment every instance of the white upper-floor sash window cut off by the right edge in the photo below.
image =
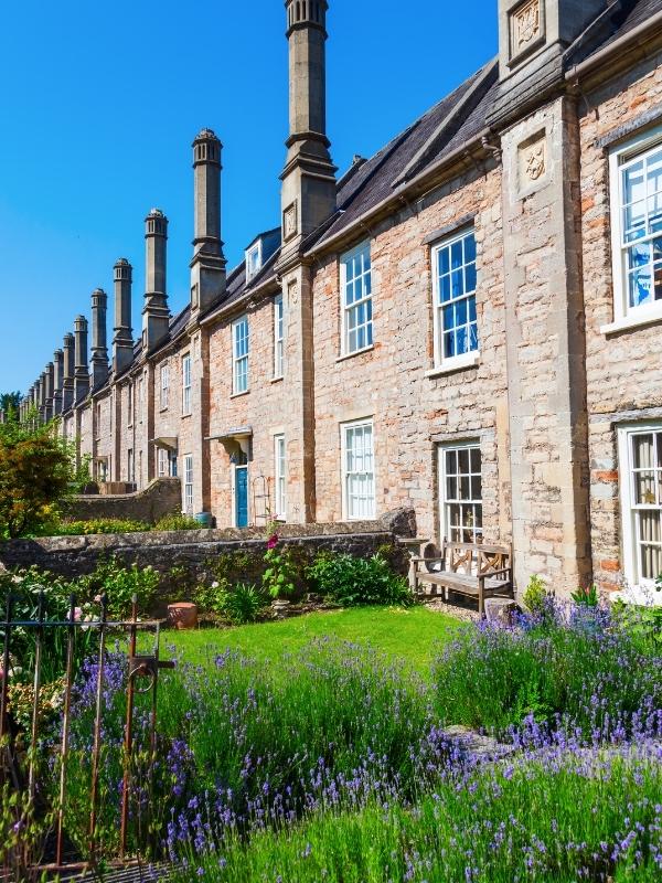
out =
[[610,156],[615,319],[662,315],[662,127]]

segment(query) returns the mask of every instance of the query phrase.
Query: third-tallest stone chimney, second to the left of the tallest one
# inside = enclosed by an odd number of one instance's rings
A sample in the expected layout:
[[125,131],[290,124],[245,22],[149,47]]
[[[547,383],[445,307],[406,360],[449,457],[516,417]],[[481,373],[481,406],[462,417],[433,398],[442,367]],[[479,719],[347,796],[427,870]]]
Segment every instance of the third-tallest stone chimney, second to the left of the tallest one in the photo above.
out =
[[142,308],[142,345],[151,352],[163,341],[170,328],[170,310],[166,294],[166,243],[168,219],[160,209],[152,209],[145,219],[145,307]]

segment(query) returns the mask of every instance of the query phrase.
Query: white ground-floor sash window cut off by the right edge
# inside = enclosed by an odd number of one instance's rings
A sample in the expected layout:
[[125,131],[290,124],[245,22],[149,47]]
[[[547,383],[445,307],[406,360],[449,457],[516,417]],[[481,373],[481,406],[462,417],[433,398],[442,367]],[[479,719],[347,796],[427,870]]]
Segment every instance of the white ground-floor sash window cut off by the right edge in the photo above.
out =
[[662,424],[619,429],[623,570],[630,586],[662,573]]

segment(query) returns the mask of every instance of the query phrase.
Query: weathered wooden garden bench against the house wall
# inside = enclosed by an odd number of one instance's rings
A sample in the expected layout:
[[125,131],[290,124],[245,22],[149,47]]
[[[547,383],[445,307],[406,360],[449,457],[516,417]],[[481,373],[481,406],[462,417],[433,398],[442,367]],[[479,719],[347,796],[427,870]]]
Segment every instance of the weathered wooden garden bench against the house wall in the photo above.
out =
[[[478,599],[478,611],[485,609],[485,598],[513,597],[513,554],[510,545],[487,543],[444,542],[441,552],[434,543],[413,560],[415,594],[437,594],[442,589],[448,600],[450,592]],[[430,586],[426,593],[421,586]]]

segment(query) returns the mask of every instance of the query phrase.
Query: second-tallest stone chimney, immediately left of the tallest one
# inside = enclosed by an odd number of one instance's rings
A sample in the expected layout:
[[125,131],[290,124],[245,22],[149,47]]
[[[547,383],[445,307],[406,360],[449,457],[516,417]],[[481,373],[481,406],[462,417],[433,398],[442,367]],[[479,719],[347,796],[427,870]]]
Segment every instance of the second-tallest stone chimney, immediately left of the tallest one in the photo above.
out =
[[221,238],[221,151],[223,145],[211,129],[193,141],[195,238],[191,262],[191,312],[206,312],[225,292],[225,266]]

